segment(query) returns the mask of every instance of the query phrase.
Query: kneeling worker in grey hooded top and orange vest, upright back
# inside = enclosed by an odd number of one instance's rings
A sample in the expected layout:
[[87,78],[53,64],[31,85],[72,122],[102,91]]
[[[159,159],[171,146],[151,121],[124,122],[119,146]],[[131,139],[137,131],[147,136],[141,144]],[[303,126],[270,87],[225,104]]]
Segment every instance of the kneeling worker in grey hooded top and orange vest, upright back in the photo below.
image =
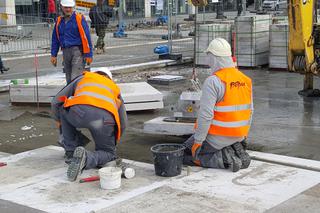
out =
[[184,163],[237,172],[251,162],[245,146],[253,112],[251,79],[235,67],[226,40],[214,39],[206,52],[212,75],[202,87],[195,134],[184,143]]

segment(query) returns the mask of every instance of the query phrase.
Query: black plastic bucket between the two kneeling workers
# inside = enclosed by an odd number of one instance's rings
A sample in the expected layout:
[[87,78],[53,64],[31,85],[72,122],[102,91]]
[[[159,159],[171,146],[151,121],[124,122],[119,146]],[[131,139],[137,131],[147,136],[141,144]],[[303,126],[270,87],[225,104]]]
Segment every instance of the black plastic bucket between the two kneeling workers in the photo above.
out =
[[182,144],[157,144],[151,147],[156,175],[162,177],[180,175],[184,149]]

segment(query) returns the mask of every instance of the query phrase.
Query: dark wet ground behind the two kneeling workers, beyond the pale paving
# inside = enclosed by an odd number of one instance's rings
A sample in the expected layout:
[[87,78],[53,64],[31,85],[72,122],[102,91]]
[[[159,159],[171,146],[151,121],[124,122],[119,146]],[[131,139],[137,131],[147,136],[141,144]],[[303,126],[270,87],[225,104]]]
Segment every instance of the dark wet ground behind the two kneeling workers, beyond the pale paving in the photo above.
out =
[[[197,69],[200,80],[209,71]],[[179,66],[115,76],[121,82],[146,81],[157,74],[178,74],[190,78],[191,67]],[[250,148],[253,150],[320,160],[320,99],[303,98],[298,91],[303,86],[303,76],[282,71],[245,70],[254,83],[254,120],[251,128]],[[182,91],[191,87],[189,81],[169,86],[157,86],[164,94],[165,108],[156,111],[129,113],[129,128],[118,146],[123,158],[151,162],[150,147],[157,143],[181,143],[185,138],[148,135],[142,133],[143,123],[158,116],[171,115]],[[315,87],[320,88],[320,79],[315,78]],[[46,145],[55,145],[55,123],[46,116],[35,114],[35,107],[10,107],[8,94],[0,94],[0,151],[18,153]],[[9,111],[10,110],[10,111]],[[39,111],[49,112],[49,107]],[[10,116],[16,117],[8,121]],[[18,113],[18,114],[16,114]],[[23,128],[23,127],[31,127]],[[22,130],[27,129],[27,130]],[[85,132],[87,133],[87,132]],[[93,149],[93,143],[88,146]]]

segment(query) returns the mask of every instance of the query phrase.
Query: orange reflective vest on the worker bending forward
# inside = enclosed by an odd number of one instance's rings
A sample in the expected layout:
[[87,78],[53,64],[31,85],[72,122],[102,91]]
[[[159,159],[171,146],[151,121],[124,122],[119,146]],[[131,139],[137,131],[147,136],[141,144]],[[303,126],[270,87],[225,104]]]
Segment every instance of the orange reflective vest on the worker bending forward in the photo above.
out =
[[120,140],[121,126],[118,109],[121,105],[120,89],[109,78],[97,73],[84,72],[84,77],[79,81],[73,96],[65,100],[64,107],[84,104],[110,112],[117,124],[117,141]]

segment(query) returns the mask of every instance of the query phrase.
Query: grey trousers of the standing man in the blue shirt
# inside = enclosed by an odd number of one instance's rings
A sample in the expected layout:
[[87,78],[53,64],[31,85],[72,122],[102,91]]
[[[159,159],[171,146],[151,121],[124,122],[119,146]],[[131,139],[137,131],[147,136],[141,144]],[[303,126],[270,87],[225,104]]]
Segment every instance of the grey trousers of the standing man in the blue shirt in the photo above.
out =
[[85,63],[81,48],[73,46],[63,49],[63,70],[68,84],[84,71]]

